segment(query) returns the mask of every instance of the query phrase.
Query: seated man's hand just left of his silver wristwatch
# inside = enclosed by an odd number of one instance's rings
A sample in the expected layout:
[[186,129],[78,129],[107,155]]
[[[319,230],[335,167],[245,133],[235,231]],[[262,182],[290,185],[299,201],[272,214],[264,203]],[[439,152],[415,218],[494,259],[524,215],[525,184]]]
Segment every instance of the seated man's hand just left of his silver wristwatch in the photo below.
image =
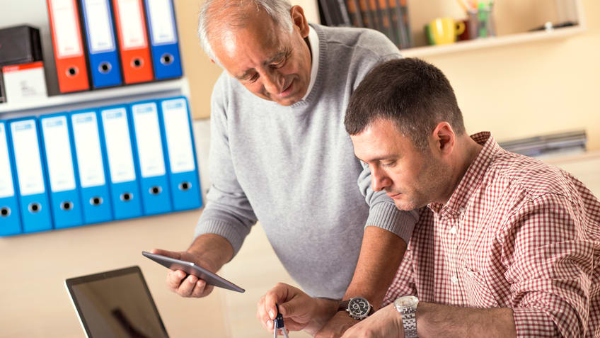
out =
[[402,326],[402,317],[393,304],[382,308],[362,320],[357,325],[350,327],[342,338],[404,338],[404,329]]

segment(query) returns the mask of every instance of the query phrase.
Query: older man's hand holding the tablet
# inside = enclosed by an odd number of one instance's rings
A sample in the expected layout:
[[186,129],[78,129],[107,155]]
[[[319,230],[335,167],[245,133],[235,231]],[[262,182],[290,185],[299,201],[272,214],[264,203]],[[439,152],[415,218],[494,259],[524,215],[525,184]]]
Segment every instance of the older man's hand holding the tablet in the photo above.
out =
[[[203,261],[197,255],[190,254],[190,252],[173,252],[161,249],[152,249],[151,252],[153,254],[161,254],[163,256],[171,257],[174,259],[180,259],[182,261],[191,261],[197,266],[202,266],[204,269],[207,269],[211,272],[216,272],[218,270],[218,268],[212,266],[212,264],[210,264],[209,262]],[[166,284],[169,290],[186,298],[206,297],[212,292],[212,289],[214,288],[214,286],[212,285],[207,285],[207,283],[202,279],[197,278],[194,275],[188,276],[188,274],[185,273],[185,271],[181,270],[169,270],[167,274]]]

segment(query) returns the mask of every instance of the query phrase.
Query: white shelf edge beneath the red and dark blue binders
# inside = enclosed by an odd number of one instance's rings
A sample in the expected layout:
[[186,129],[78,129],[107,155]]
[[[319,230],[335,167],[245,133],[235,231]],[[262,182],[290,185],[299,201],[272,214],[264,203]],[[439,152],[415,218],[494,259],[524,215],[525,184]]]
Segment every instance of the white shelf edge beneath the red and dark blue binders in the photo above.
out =
[[[47,111],[71,111],[76,106],[104,106],[112,103],[125,103],[132,99],[146,99],[167,95],[189,96],[188,80],[181,79],[132,84],[108,89],[81,91],[72,94],[50,96],[40,101],[23,103],[0,103],[0,114],[45,113]],[[120,102],[121,101],[121,102]]]

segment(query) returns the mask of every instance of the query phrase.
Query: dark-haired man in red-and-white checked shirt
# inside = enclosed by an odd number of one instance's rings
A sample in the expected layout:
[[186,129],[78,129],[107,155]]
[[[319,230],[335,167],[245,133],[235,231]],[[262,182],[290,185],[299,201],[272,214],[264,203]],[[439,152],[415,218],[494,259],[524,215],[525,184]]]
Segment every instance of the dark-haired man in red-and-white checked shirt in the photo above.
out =
[[[393,304],[344,337],[600,337],[600,201],[580,181],[469,136],[449,81],[421,60],[373,69],[345,125],[374,190],[421,209]],[[274,303],[294,328],[337,310],[284,284]]]

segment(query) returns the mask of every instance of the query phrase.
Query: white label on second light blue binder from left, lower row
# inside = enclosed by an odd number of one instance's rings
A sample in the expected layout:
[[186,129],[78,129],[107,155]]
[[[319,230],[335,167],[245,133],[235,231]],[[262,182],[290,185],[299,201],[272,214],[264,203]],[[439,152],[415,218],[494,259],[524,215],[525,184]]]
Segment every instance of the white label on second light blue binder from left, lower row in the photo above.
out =
[[11,123],[11,133],[13,135],[13,150],[21,195],[44,193],[46,188],[35,120],[22,120]]

